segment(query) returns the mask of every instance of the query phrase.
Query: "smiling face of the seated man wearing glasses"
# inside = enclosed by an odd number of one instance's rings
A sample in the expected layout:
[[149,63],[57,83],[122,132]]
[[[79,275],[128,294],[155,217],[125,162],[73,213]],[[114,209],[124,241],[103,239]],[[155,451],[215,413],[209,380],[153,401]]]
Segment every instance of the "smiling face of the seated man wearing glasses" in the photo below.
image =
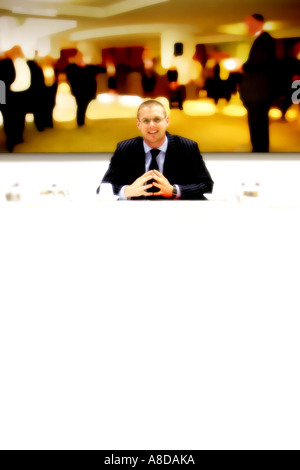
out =
[[143,107],[136,124],[149,147],[157,148],[164,143],[169,125],[164,108],[159,105]]

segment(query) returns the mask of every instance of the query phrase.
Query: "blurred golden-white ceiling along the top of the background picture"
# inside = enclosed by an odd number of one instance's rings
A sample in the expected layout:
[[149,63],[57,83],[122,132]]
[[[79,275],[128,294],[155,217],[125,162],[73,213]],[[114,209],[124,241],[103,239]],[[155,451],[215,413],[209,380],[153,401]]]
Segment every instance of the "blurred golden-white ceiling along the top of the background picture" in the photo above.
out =
[[0,0],[0,13],[19,25],[32,18],[31,27],[42,25],[60,46],[84,39],[147,46],[170,28],[192,31],[197,42],[231,41],[241,35],[228,32],[228,25],[252,13],[276,22],[274,37],[300,37],[299,0]]

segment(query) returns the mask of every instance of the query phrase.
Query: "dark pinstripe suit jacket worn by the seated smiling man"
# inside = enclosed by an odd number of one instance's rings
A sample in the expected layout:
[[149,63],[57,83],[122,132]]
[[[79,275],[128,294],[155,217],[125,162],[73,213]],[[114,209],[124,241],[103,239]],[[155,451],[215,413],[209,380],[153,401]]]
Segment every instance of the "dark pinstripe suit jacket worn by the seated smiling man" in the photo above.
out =
[[[205,199],[212,192],[213,180],[205,166],[196,142],[167,132],[168,148],[163,174],[180,187],[181,199]],[[145,151],[142,137],[125,140],[117,145],[102,183],[111,183],[114,194],[122,186],[132,184],[145,173]],[[151,199],[158,199],[153,196]],[[144,199],[134,198],[134,199]],[[164,199],[164,198],[162,198]]]

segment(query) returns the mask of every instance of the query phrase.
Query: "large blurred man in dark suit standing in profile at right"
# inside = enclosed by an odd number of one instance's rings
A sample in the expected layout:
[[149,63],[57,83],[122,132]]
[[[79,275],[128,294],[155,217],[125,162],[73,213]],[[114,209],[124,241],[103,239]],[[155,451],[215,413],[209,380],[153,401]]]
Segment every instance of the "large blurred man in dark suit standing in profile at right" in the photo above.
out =
[[275,90],[276,48],[269,33],[263,31],[264,18],[254,14],[246,18],[249,34],[255,40],[243,65],[240,95],[248,111],[253,152],[269,151],[269,117]]

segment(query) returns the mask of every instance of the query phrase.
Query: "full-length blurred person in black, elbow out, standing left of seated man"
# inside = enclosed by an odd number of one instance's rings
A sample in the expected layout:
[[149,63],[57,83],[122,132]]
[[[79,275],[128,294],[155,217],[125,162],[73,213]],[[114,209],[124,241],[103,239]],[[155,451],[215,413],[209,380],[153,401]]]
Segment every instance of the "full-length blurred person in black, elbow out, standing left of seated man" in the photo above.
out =
[[77,125],[83,126],[87,107],[90,101],[96,97],[96,75],[104,72],[105,68],[85,64],[83,54],[80,51],[77,51],[76,55],[71,57],[69,61],[70,63],[66,67],[66,75],[77,103]]

